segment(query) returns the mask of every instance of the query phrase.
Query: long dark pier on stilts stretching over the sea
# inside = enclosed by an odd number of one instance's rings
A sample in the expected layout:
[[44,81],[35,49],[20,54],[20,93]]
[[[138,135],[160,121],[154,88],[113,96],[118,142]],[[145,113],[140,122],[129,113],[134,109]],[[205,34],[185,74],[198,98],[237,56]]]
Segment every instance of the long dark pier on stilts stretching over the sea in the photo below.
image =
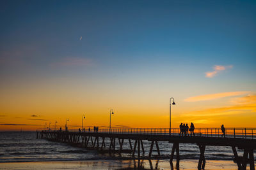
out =
[[[200,152],[198,169],[205,168],[205,148],[207,146],[230,146],[234,153],[234,160],[238,169],[246,169],[249,164],[250,169],[255,170],[253,150],[256,150],[256,128],[226,128],[225,137],[221,136],[220,128],[198,128],[195,129],[195,136],[190,133],[186,136],[180,134],[180,129],[176,128],[124,128],[124,129],[99,129],[99,131],[37,131],[36,138],[48,139],[63,143],[80,145],[88,148],[90,145],[97,150],[108,150],[109,152],[124,152],[124,142],[129,143],[132,157],[140,158],[145,154],[143,141],[150,141],[148,159],[151,159],[153,148],[159,150],[159,141],[172,143],[170,153],[170,163],[176,156],[177,164],[180,160],[180,143],[197,145]],[[99,142],[101,138],[101,143]],[[105,139],[109,138],[110,144],[106,146]],[[117,144],[118,143],[118,144]],[[171,147],[171,145],[170,145]],[[243,156],[237,154],[237,148],[243,150]],[[137,153],[137,155],[136,155]]]

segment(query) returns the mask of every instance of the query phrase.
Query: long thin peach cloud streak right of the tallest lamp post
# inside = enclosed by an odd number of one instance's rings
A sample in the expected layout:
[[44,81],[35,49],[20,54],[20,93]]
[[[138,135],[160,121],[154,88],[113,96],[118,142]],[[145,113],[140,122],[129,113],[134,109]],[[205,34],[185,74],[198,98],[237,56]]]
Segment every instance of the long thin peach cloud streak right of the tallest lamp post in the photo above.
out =
[[189,102],[195,102],[195,101],[209,101],[213,99],[219,99],[222,97],[229,97],[229,96],[240,96],[244,94],[248,94],[249,92],[223,92],[223,93],[217,93],[217,94],[206,94],[202,96],[193,96],[188,97],[185,99],[185,101]]

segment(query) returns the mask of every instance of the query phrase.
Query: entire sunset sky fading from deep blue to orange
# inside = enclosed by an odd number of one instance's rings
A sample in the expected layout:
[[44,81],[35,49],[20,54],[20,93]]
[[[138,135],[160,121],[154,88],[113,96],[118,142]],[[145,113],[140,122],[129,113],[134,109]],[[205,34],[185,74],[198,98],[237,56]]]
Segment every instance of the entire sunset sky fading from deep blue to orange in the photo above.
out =
[[255,127],[255,1],[1,1],[0,131]]

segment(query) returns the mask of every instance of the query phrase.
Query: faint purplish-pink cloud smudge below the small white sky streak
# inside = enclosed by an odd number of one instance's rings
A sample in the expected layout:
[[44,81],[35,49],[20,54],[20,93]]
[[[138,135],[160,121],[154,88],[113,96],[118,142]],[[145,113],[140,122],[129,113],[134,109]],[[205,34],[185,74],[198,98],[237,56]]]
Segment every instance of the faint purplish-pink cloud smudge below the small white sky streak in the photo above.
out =
[[92,66],[91,59],[79,57],[65,57],[58,62],[52,62],[51,67],[71,67],[71,66]]

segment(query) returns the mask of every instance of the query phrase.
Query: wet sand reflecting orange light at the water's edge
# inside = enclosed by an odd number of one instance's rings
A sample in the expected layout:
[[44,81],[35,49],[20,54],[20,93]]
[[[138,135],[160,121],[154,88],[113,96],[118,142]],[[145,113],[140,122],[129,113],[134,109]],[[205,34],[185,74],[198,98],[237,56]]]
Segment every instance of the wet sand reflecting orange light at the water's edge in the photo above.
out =
[[[197,169],[198,160],[180,160],[173,169]],[[8,162],[0,163],[0,169],[172,169],[168,160],[83,160],[83,161],[54,161],[54,162]],[[207,169],[237,169],[230,160],[207,160]]]

